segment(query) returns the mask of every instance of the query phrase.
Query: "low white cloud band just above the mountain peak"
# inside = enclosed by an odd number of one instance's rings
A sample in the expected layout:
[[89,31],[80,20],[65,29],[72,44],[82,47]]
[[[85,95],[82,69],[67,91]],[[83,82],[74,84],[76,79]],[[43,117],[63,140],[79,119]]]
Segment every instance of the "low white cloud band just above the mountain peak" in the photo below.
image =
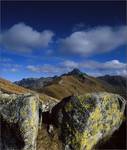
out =
[[68,71],[71,71],[74,68],[79,68],[83,72],[90,75],[127,75],[127,65],[119,60],[110,60],[106,62],[98,61],[84,61],[84,62],[75,62],[72,60],[65,60],[62,63],[58,63],[57,66],[44,64],[42,66],[28,65],[26,67],[29,71],[35,73],[47,73],[47,74],[62,74]]

